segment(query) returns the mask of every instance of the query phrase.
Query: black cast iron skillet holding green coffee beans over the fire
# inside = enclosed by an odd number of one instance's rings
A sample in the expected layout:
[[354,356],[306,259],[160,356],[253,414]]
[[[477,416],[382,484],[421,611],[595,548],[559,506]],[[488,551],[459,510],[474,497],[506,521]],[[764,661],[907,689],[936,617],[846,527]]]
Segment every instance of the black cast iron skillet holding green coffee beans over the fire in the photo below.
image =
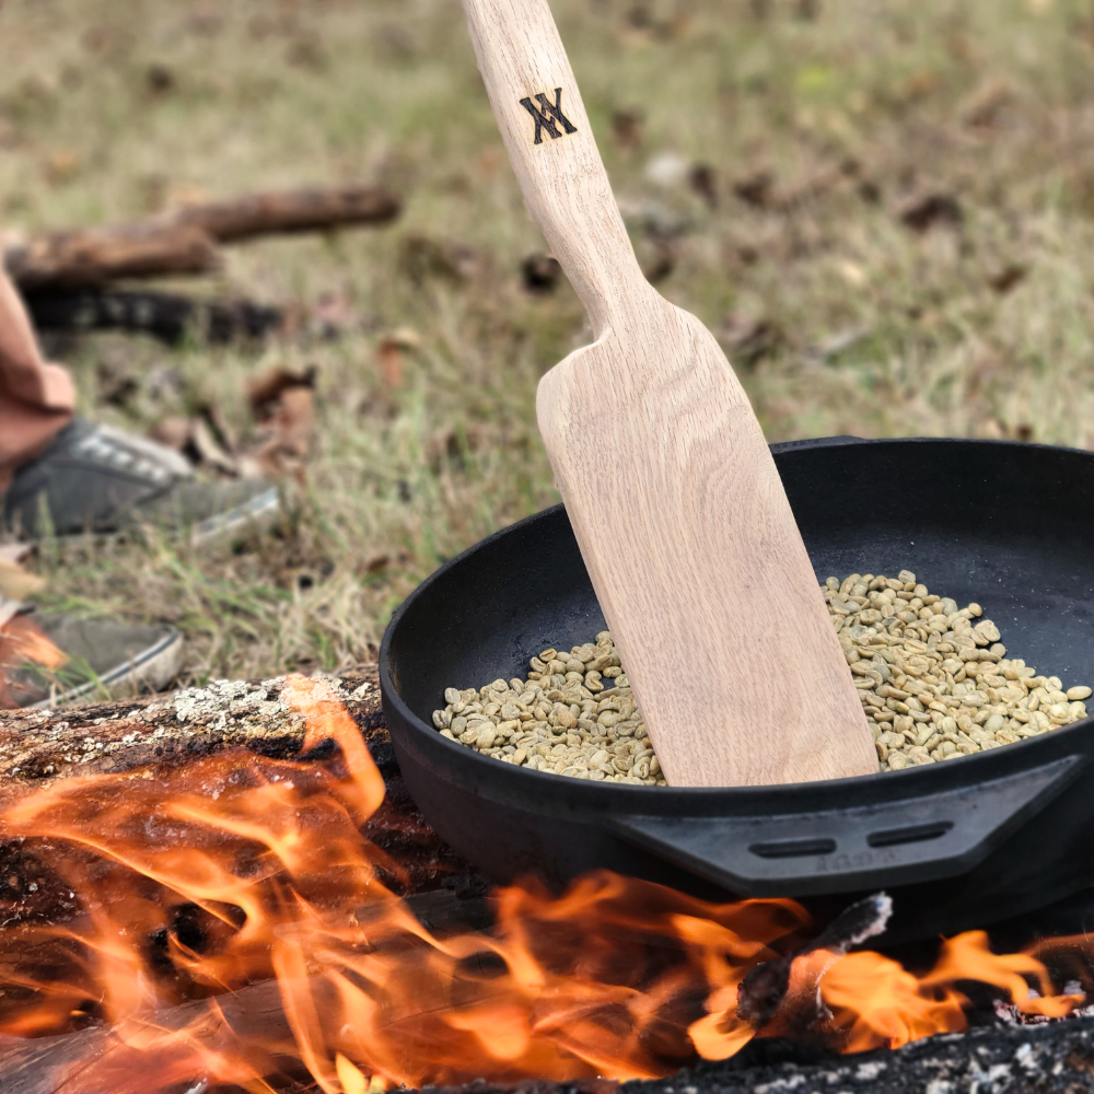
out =
[[[939,595],[979,601],[1012,656],[1064,687],[1094,684],[1094,453],[854,438],[772,451],[819,579],[913,570]],[[387,628],[381,685],[404,778],[493,877],[560,887],[603,866],[720,899],[798,897],[819,915],[885,887],[894,940],[1094,886],[1091,720],[905,771],[703,790],[542,775],[433,729],[445,687],[523,677],[544,647],[603,628],[561,505],[446,563]]]

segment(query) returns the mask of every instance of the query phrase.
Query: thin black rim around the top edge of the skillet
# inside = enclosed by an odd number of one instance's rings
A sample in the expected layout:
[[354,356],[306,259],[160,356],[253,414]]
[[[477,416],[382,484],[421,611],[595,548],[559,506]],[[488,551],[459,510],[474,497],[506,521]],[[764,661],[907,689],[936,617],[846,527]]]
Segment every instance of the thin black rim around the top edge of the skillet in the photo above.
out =
[[[1073,454],[1094,459],[1094,453],[1063,445],[1032,444],[1025,441],[997,441],[969,438],[816,438],[772,444],[775,454],[801,452],[814,447],[851,445],[905,445],[905,444],[974,444],[978,447],[1022,449],[1039,452]],[[590,782],[570,779],[546,771],[529,771],[502,764],[455,741],[449,741],[430,724],[420,719],[403,700],[391,670],[391,647],[395,632],[406,613],[419,595],[434,583],[443,581],[449,572],[479,550],[494,545],[499,539],[539,521],[557,516],[565,505],[551,505],[520,521],[499,528],[456,555],[433,571],[410,593],[392,616],[380,647],[380,686],[385,707],[393,708],[396,717],[388,715],[388,731],[396,754],[410,753],[415,760],[452,785],[474,794],[522,810],[557,814],[568,813],[629,813],[643,815],[717,816],[734,814],[782,815],[846,808],[848,804],[870,806],[893,804],[932,798],[935,794],[980,783],[1009,775],[1021,773],[1033,767],[1049,764],[1081,749],[1072,747],[1076,733],[1090,732],[1094,715],[1080,722],[1061,726],[1051,733],[1040,734],[993,748],[986,753],[963,756],[944,764],[930,764],[906,768],[903,771],[878,771],[876,775],[853,776],[846,779],[827,779],[806,783],[776,783],[761,787],[635,787],[621,783]],[[970,764],[973,765],[970,767]],[[848,796],[850,795],[850,796]],[[728,806],[732,806],[728,810]]]

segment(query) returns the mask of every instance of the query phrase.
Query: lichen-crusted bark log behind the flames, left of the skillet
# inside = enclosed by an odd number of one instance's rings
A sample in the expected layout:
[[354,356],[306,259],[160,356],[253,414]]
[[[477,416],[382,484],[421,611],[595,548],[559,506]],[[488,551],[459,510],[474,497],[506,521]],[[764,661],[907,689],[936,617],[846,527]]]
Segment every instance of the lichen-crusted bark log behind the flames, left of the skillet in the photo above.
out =
[[[146,780],[173,767],[229,748],[260,756],[322,759],[328,746],[309,752],[305,719],[282,699],[287,677],[217,682],[167,696],[98,702],[60,710],[0,710],[0,812],[28,795],[86,775]],[[485,882],[443,843],[418,812],[399,776],[380,705],[375,665],[334,682],[384,777],[386,794],[366,825],[369,838],[399,865],[397,887],[418,893],[443,884],[479,897]],[[40,856],[0,831],[0,900],[9,916],[65,919],[73,905]]]

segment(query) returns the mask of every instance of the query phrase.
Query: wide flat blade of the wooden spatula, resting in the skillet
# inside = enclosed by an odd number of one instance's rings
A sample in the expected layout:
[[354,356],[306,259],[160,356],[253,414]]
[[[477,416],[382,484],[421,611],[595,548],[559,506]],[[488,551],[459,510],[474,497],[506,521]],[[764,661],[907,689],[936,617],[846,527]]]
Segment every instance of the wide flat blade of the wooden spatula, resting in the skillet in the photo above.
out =
[[706,327],[650,290],[543,377],[537,416],[667,781],[876,772],[775,462]]

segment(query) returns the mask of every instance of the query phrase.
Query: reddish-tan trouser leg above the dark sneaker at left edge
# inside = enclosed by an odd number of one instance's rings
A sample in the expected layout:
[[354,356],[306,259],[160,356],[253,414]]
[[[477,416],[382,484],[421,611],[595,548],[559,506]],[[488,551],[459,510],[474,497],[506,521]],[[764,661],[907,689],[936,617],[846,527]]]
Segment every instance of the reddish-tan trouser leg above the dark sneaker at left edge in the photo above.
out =
[[42,359],[23,302],[0,266],[0,493],[72,419],[68,373]]

